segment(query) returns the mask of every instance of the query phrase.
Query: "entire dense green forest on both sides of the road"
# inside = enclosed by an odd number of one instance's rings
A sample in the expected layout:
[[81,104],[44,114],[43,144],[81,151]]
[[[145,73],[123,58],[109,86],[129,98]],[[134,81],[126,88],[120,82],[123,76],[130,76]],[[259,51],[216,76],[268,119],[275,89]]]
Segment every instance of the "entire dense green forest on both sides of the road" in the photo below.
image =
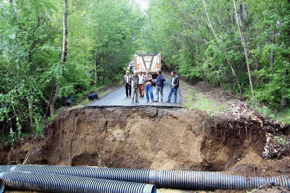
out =
[[110,83],[136,52],[289,112],[289,30],[289,0],[3,0],[1,138],[40,134],[64,97]]

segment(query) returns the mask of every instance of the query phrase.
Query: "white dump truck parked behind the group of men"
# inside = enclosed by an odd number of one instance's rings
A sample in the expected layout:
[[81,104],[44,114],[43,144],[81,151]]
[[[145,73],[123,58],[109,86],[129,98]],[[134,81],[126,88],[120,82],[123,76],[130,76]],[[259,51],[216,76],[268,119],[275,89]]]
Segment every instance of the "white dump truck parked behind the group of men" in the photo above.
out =
[[161,54],[135,54],[135,68],[137,71],[142,70],[144,74],[149,69],[153,79],[156,79],[157,71],[161,69]]

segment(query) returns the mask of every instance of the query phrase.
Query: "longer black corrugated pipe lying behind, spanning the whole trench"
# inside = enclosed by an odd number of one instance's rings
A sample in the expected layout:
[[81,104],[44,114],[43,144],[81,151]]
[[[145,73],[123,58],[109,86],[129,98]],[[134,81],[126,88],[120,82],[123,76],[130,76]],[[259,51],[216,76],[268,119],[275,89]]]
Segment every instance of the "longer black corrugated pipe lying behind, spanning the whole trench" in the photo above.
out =
[[271,182],[279,183],[282,186],[290,188],[290,179],[288,176],[246,178],[244,176],[228,175],[221,172],[143,170],[51,165],[8,165],[0,166],[0,170],[1,168],[6,170],[33,171],[155,184],[160,188],[174,188],[183,190],[249,190]]

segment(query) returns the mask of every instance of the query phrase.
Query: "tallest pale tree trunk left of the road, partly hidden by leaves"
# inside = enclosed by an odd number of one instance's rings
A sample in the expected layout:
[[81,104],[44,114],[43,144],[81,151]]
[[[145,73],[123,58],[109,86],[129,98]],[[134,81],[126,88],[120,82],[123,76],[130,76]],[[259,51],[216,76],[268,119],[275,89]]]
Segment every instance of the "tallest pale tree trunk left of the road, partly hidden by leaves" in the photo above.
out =
[[[68,17],[68,0],[64,0],[64,14],[63,14],[63,37],[62,37],[62,53],[61,53],[61,73],[64,74],[64,64],[66,62],[66,55],[67,55],[67,36],[68,36],[68,29],[67,29],[67,17]],[[59,93],[60,84],[57,82],[55,94],[50,102],[50,116],[55,114],[55,106],[58,100],[58,93]]]

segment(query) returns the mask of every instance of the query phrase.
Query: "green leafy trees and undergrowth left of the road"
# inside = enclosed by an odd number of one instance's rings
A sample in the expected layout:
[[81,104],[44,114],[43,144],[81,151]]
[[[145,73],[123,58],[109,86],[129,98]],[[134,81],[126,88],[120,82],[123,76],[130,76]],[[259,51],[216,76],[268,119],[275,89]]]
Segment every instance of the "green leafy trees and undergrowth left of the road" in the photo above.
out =
[[142,13],[134,1],[69,0],[67,57],[61,66],[63,3],[0,2],[1,140],[41,134],[55,117],[48,105],[58,83],[57,108],[69,94],[80,101],[83,93],[119,78],[139,46],[134,38]]

